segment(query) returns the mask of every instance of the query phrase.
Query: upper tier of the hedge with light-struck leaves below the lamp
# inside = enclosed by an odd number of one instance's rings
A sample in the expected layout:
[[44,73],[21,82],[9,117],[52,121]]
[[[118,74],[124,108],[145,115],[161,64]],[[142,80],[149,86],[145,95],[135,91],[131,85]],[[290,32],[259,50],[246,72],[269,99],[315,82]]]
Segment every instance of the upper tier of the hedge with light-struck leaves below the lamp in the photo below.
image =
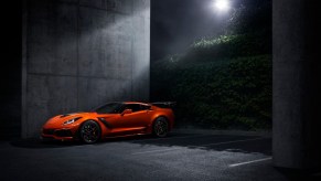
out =
[[271,52],[271,39],[260,32],[255,34],[221,35],[212,39],[201,39],[194,42],[185,61],[217,58],[234,58],[240,56],[254,56],[269,54]]

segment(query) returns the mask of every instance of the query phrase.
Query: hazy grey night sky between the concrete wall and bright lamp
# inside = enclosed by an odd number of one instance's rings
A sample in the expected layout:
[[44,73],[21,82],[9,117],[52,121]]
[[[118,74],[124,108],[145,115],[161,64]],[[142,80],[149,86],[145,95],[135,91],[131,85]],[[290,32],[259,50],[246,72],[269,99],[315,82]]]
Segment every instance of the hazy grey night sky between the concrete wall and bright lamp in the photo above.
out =
[[213,1],[151,0],[151,61],[181,53],[194,40],[222,32],[231,11],[218,13]]

